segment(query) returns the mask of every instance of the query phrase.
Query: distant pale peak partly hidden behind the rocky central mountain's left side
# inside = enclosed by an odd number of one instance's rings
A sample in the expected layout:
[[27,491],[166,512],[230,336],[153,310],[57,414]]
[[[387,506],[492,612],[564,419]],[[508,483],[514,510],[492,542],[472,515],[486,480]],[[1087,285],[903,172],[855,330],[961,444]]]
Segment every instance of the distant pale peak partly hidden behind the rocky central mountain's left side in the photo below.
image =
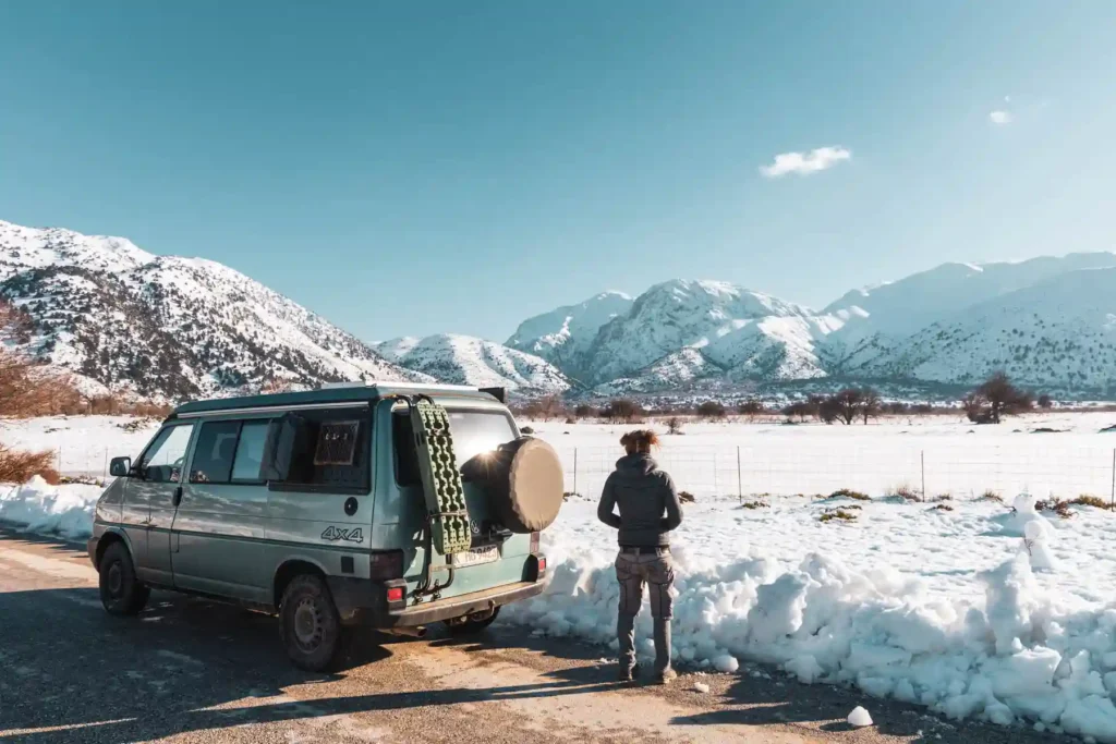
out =
[[525,320],[506,346],[542,357],[567,374],[579,376],[585,356],[602,326],[627,313],[632,302],[624,292],[602,292],[585,302]]

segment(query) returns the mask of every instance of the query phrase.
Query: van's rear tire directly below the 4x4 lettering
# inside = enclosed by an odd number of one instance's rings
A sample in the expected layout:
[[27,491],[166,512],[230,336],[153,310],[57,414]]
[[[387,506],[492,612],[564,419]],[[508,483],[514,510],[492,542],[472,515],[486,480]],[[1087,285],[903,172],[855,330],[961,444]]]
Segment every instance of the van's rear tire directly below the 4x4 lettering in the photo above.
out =
[[325,580],[301,573],[290,580],[279,605],[282,642],[295,666],[329,669],[343,646],[341,620]]

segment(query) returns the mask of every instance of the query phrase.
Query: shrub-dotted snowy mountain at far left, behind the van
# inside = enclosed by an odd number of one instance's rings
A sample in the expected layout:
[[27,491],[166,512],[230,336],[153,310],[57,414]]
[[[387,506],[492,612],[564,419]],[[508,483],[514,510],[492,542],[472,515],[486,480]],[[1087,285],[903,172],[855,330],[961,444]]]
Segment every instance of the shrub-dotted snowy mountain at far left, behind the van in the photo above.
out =
[[183,398],[353,379],[429,379],[220,263],[0,221],[0,294],[25,347],[89,389]]

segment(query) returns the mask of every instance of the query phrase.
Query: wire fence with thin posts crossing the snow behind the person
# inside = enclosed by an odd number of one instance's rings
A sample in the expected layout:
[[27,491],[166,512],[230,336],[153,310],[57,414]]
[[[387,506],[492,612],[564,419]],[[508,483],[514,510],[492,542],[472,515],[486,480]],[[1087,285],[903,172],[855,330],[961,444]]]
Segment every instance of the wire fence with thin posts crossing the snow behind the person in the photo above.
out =
[[[567,491],[594,497],[615,468],[616,447],[560,446]],[[655,455],[680,491],[695,495],[828,495],[852,489],[873,496],[913,493],[977,499],[1019,493],[1116,503],[1116,448],[1061,442],[903,446],[829,443],[824,451],[782,441],[767,446],[671,446]]]

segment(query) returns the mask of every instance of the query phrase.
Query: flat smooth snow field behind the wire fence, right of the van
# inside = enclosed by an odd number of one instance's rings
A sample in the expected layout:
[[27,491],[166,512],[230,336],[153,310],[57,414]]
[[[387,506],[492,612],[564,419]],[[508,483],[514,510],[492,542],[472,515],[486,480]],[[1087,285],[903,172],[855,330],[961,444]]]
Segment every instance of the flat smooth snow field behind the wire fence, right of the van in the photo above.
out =
[[[620,435],[635,426],[525,422],[562,460],[566,487],[596,497],[620,454]],[[999,426],[963,416],[884,418],[868,426],[809,423],[686,423],[677,436],[662,422],[656,458],[679,489],[698,496],[872,495],[906,486],[927,496],[1113,495],[1116,413],[1036,414]],[[1054,429],[1056,433],[1035,433]]]

